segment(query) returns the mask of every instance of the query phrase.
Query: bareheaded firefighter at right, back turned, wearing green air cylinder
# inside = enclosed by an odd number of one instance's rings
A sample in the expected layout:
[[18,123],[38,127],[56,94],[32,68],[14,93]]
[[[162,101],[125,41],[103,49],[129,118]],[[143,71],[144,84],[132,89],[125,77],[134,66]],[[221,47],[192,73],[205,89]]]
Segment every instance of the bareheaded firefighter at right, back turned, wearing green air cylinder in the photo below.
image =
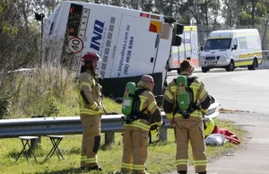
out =
[[[206,174],[206,154],[204,144],[203,117],[211,104],[211,98],[204,88],[204,83],[192,76],[194,66],[189,60],[180,64],[181,73],[169,83],[164,93],[163,110],[170,124],[174,126],[177,153],[176,165],[179,174],[187,174],[188,142],[193,151],[195,172]],[[178,84],[178,79],[187,79],[187,87],[180,88],[184,83]],[[184,86],[184,85],[183,85]],[[182,110],[180,105],[186,104],[185,97],[179,94],[188,92],[188,108]],[[179,96],[179,97],[178,97]]]

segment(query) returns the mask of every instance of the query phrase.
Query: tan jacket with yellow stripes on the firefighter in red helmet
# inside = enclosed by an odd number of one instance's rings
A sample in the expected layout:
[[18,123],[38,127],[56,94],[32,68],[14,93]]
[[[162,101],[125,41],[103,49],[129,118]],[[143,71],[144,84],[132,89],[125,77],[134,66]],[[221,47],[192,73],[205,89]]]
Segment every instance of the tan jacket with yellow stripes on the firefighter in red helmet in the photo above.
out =
[[104,113],[101,105],[101,86],[96,79],[98,76],[88,69],[79,75],[78,96],[81,115],[97,116]]

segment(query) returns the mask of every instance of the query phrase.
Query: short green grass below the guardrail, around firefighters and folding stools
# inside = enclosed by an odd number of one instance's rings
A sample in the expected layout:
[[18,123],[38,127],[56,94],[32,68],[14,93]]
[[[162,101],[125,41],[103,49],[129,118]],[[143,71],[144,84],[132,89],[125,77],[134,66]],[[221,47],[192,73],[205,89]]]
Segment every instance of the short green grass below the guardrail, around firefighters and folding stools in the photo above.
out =
[[[222,121],[216,119],[218,126],[227,128],[230,132],[236,133],[239,140],[243,140],[246,134],[239,126],[235,126],[229,121]],[[164,173],[176,170],[174,166],[176,144],[174,133],[172,129],[168,131],[168,141],[159,142],[155,135],[152,135],[153,143],[149,146],[149,155],[146,162],[148,172],[150,173]],[[1,173],[87,173],[79,170],[80,167],[80,152],[81,152],[82,135],[67,135],[59,145],[64,154],[65,160],[58,161],[56,154],[48,161],[44,161],[52,144],[48,137],[42,137],[41,143],[35,150],[38,162],[27,162],[22,156],[19,161],[14,162],[19,152],[22,150],[22,143],[19,138],[1,139],[0,140],[0,172]],[[115,144],[104,145],[104,135],[102,135],[102,146],[98,153],[100,166],[104,169],[100,173],[117,172],[120,169],[122,158],[122,135],[116,134]],[[242,145],[224,144],[221,147],[207,146],[206,153],[209,161],[213,161],[225,155],[228,152],[235,151],[242,147]],[[189,148],[190,163],[192,163],[191,148]],[[92,173],[92,172],[91,172]]]

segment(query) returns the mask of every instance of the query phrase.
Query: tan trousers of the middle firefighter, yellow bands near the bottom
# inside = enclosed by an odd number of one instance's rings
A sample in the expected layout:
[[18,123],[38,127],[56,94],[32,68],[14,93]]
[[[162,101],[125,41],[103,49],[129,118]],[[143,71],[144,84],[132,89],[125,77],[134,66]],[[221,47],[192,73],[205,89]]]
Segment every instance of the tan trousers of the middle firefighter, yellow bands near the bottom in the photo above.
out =
[[144,130],[125,130],[121,172],[145,173],[145,161],[148,156],[148,137],[148,132]]

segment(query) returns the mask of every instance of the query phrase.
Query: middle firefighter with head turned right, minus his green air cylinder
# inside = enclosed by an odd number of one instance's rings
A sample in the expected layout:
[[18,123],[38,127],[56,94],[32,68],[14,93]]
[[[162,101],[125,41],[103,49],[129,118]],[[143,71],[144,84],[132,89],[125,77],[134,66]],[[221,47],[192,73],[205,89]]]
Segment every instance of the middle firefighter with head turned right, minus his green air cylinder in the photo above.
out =
[[126,121],[123,135],[122,173],[145,173],[145,161],[148,157],[148,137],[151,120],[155,125],[162,125],[161,110],[152,94],[154,81],[152,76],[143,75],[135,88],[139,97],[138,109],[131,121]]

